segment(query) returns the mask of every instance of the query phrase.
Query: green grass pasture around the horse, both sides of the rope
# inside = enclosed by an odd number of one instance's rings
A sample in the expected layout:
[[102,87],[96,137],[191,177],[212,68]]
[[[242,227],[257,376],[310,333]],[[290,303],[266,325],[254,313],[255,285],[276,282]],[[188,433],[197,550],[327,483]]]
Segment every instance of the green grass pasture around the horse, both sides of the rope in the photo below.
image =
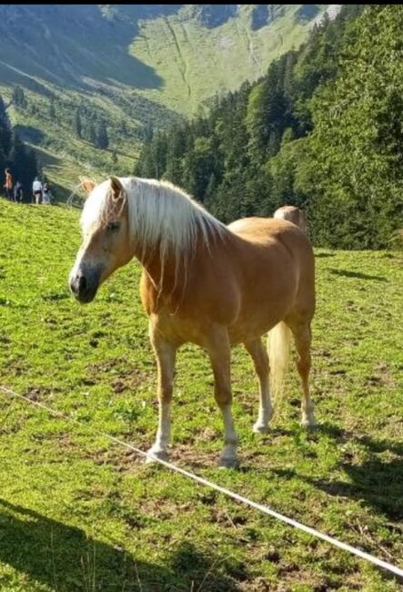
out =
[[[146,449],[156,367],[130,264],[79,306],[66,279],[76,211],[0,200],[0,589],[139,592],[398,590],[394,577],[94,435]],[[313,394],[299,427],[296,373],[277,424],[252,434],[257,384],[234,350],[241,469],[217,469],[222,428],[205,355],[178,356],[172,458],[392,563],[401,562],[401,260],[317,251]]]

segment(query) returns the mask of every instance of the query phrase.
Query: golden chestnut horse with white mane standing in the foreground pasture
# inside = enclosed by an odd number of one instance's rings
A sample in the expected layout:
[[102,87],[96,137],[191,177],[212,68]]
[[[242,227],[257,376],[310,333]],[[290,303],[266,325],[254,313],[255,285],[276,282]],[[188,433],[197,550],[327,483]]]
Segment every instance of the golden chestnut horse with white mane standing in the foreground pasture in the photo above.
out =
[[[248,218],[225,226],[166,181],[111,177],[86,183],[84,242],[69,283],[90,302],[101,283],[136,257],[143,266],[141,300],[156,353],[159,422],[150,460],[166,459],[176,351],[204,348],[224,421],[221,466],[237,465],[231,413],[230,352],[244,343],[259,381],[254,431],[266,434],[273,416],[269,391],[279,393],[291,333],[302,381],[302,424],[314,426],[309,397],[310,323],[315,311],[314,255],[307,237],[282,219]],[[268,356],[261,338],[269,334]],[[278,394],[277,393],[277,394]]]

